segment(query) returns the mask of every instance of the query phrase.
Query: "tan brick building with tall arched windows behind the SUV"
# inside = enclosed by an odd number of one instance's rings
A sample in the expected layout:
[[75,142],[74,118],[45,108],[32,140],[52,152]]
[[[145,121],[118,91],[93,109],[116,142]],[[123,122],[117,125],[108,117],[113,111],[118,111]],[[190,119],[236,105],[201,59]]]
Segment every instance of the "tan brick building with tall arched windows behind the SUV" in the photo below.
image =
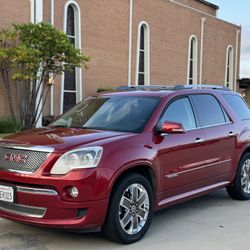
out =
[[[90,56],[89,69],[57,79],[46,114],[100,87],[217,83],[236,90],[241,28],[204,0],[0,1],[0,26],[50,22]],[[0,116],[8,109],[0,85]]]

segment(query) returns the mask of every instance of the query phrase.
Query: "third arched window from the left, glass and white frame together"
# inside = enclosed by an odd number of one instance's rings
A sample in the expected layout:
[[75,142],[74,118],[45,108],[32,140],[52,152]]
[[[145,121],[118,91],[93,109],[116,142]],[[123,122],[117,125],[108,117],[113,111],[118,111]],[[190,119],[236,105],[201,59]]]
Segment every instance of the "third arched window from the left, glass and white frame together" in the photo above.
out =
[[189,39],[188,52],[188,84],[197,84],[197,38],[191,36]]

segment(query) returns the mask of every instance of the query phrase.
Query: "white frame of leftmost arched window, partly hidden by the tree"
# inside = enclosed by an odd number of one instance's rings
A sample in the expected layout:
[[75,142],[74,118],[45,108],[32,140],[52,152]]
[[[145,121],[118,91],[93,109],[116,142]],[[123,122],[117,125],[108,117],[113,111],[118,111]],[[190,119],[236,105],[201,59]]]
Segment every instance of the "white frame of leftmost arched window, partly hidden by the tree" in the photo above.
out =
[[[67,31],[67,12],[68,7],[71,6],[74,9],[74,18],[75,18],[75,47],[80,49],[82,48],[82,34],[81,34],[81,9],[76,1],[70,0],[67,1],[64,5],[64,18],[63,18],[63,31]],[[70,37],[70,36],[68,36]],[[64,92],[72,92],[64,90],[64,81],[65,74],[62,74],[61,77],[61,103],[60,103],[60,113],[63,113],[63,103],[64,103]],[[82,69],[76,68],[76,103],[82,100]]]

